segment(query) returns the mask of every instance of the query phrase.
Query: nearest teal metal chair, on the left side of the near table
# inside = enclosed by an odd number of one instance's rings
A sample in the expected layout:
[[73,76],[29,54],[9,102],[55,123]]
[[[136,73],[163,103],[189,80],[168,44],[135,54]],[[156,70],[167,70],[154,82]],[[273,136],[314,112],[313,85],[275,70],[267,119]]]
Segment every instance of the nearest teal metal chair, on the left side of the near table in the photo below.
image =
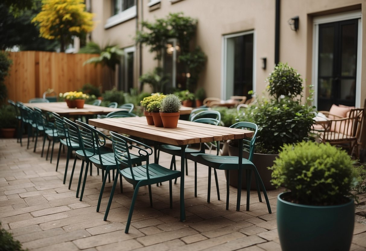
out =
[[[112,135],[112,145],[113,151],[115,153],[117,165],[117,172],[122,175],[129,183],[131,183],[135,187],[134,194],[132,196],[130,211],[128,213],[127,224],[125,233],[128,233],[128,229],[130,228],[132,213],[134,210],[135,201],[137,198],[138,190],[141,186],[149,187],[149,195],[150,195],[150,206],[152,206],[152,195],[151,195],[151,185],[160,183],[163,181],[169,181],[169,199],[170,199],[170,208],[172,208],[172,180],[181,176],[180,171],[170,170],[160,166],[158,164],[149,164],[149,156],[152,155],[153,149],[143,143],[135,141],[133,139],[127,138],[126,136],[117,134],[115,132],[111,132]],[[141,158],[144,158],[146,164],[132,167],[132,160],[130,149],[134,149],[138,151],[138,154]],[[120,166],[127,166],[127,168],[121,168]],[[112,203],[113,194],[115,191],[116,183],[118,176],[113,182],[113,187],[111,191],[111,196],[109,196],[109,201],[107,205],[107,209],[105,211],[104,220],[107,220],[109,208]],[[180,185],[180,190],[183,190],[183,184]],[[183,194],[180,193],[180,203],[184,205]],[[182,210],[182,209],[181,209]],[[184,210],[184,209],[183,209]]]

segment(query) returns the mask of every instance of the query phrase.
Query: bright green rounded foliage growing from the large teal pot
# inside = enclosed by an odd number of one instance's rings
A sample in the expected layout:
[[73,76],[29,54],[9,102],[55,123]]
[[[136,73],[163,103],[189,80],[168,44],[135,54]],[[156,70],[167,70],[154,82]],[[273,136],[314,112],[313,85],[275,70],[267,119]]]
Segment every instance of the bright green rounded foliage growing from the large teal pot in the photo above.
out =
[[271,182],[291,191],[294,203],[337,205],[350,196],[357,183],[354,161],[346,151],[329,143],[299,142],[281,147],[270,170]]

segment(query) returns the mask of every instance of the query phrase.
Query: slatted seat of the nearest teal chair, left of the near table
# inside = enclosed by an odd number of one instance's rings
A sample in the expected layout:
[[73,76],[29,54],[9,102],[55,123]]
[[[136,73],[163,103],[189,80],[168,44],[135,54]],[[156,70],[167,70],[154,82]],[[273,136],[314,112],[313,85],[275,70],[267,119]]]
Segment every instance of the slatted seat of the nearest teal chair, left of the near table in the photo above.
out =
[[144,184],[151,185],[180,177],[180,171],[170,170],[158,164],[149,164],[149,179],[147,179],[146,165],[132,167],[134,179],[131,168],[122,169],[120,172],[132,184],[136,183],[135,181],[145,181],[142,182],[142,186]]

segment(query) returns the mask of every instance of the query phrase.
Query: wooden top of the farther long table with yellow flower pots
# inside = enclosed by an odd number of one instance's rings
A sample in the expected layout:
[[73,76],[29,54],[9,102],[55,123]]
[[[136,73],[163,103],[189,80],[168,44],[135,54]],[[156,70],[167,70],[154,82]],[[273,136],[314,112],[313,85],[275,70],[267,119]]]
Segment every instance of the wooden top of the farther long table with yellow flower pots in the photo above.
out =
[[47,112],[56,112],[61,116],[65,115],[93,115],[93,114],[108,114],[117,110],[123,110],[120,108],[109,108],[98,105],[85,104],[84,108],[68,108],[66,102],[50,102],[50,103],[24,103],[29,108],[38,107],[41,110]]

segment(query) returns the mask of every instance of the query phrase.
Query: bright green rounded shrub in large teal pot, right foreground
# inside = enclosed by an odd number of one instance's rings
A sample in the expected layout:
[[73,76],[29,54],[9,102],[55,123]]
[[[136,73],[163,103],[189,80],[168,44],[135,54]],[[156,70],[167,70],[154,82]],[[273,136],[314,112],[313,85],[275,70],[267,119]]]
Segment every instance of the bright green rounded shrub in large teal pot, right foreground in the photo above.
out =
[[316,142],[281,147],[270,168],[277,196],[277,230],[283,251],[350,250],[357,183],[346,151]]

